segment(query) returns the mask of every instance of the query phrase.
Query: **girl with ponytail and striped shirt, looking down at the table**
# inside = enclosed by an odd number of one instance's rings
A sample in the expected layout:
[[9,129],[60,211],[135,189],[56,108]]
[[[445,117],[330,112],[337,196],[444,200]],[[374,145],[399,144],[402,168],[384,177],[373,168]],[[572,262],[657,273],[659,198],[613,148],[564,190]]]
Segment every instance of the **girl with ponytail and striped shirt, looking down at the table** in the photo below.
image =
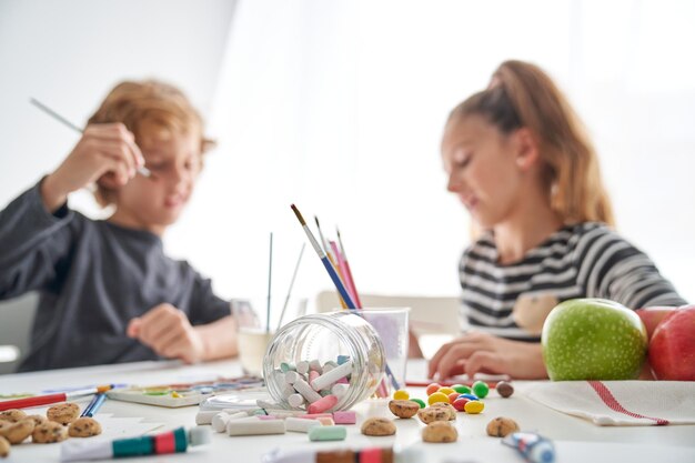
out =
[[454,108],[442,158],[449,191],[482,233],[459,266],[475,331],[443,345],[430,376],[546,378],[541,329],[567,299],[685,304],[647,255],[612,230],[596,153],[538,67],[506,61],[486,90]]

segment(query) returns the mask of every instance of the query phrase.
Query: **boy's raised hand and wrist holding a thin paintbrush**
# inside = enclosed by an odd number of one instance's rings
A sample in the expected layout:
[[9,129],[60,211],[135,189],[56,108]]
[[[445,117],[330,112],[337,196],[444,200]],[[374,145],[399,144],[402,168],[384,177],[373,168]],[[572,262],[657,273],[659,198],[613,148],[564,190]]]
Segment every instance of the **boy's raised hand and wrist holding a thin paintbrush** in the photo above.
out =
[[43,203],[54,212],[68,194],[97,181],[109,189],[118,189],[142,165],[142,153],[125,125],[88,125],[72,152],[41,184]]

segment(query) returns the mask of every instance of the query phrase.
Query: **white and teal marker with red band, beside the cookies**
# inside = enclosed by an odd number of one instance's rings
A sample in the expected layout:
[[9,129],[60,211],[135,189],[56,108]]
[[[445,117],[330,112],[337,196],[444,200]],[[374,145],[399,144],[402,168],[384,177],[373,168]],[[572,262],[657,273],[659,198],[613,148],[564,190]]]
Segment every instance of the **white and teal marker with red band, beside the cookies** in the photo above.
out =
[[211,432],[207,426],[177,427],[155,435],[143,435],[117,441],[77,441],[69,440],[60,449],[61,462],[120,459],[124,456],[160,455],[185,452],[189,445],[208,444]]

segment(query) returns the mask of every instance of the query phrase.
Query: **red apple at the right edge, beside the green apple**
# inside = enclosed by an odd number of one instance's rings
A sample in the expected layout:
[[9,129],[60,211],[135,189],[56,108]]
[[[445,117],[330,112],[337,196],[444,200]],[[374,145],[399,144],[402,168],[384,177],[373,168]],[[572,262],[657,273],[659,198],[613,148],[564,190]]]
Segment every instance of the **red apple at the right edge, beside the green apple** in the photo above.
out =
[[662,320],[648,355],[658,380],[695,381],[695,305],[674,310]]

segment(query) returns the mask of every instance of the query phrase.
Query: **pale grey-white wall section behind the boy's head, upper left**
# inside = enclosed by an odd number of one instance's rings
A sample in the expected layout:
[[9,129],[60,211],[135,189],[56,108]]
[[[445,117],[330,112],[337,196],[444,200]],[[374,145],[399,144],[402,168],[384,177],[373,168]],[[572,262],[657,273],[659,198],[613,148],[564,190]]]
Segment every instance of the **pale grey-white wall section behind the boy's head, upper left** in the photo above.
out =
[[[29,104],[83,125],[123,79],[180,85],[208,112],[233,13],[228,0],[0,0],[0,204],[78,140]],[[94,213],[89,194],[72,202]]]

